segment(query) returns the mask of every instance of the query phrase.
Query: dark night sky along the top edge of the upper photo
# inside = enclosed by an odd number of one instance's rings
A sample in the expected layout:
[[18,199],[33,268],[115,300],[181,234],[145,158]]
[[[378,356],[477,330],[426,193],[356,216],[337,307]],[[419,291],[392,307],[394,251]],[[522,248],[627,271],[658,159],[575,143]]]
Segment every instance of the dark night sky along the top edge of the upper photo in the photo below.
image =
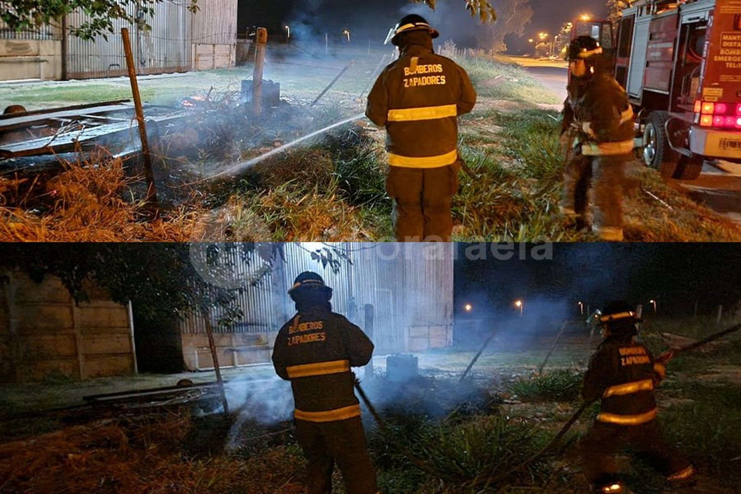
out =
[[[459,7],[464,10],[463,0],[439,0],[438,10],[446,7]],[[496,1],[493,2],[496,6]],[[604,0],[532,0],[531,6],[535,15],[531,24],[526,27],[525,36],[519,38],[511,36],[508,46],[512,52],[528,47],[528,37],[534,36],[539,31],[557,33],[560,25],[581,13],[591,13],[593,16],[605,16],[606,7]],[[431,11],[413,7],[405,0],[239,0],[239,29],[263,25],[273,32],[281,32],[282,26],[291,24],[298,35],[299,24],[310,26],[319,36],[319,32],[341,33],[347,28],[356,33],[357,39],[367,42],[370,39],[385,38],[388,29],[399,20],[405,13],[416,8],[423,15]],[[462,25],[462,31],[475,29],[476,21],[473,19],[462,19],[461,23],[471,22],[470,26]],[[442,39],[448,37],[460,37],[460,33],[442,33]],[[323,33],[322,35],[323,36]],[[456,40],[456,42],[460,42]]]

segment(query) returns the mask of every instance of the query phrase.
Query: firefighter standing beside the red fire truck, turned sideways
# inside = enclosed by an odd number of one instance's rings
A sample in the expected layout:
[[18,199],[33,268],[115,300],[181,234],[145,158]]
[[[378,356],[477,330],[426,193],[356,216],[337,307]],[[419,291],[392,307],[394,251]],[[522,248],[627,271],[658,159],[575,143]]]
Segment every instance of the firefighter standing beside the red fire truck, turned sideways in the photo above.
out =
[[590,36],[579,36],[568,47],[561,212],[579,229],[591,224],[601,240],[622,241],[622,187],[625,164],[633,158],[634,115],[625,90],[599,70],[601,53]]

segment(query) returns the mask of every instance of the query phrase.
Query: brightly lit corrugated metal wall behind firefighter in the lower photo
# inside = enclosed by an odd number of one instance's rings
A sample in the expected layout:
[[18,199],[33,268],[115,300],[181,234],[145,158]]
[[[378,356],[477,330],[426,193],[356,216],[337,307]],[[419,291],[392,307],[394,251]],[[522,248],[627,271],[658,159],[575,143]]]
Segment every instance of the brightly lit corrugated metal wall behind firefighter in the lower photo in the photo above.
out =
[[[285,261],[276,263],[259,287],[239,297],[243,321],[217,332],[262,333],[272,344],[275,333],[295,312],[286,294],[293,278],[310,270],[321,274],[333,288],[333,310],[350,321],[363,327],[363,307],[373,305],[376,354],[452,343],[452,244],[336,244],[350,258],[350,262],[341,261],[338,273],[311,258],[310,250],[317,247],[321,245],[285,244]],[[250,263],[255,261],[256,256]],[[199,318],[190,318],[182,324],[182,332],[201,334],[205,326]],[[415,337],[417,343],[411,341]],[[422,342],[425,338],[426,343]]]

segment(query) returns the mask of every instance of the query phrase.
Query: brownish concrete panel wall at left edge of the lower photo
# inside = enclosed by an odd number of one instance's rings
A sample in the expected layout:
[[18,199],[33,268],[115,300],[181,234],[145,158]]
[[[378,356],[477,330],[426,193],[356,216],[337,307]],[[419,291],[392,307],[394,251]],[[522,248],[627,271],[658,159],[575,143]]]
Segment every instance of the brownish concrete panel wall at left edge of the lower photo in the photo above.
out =
[[94,293],[75,304],[58,278],[6,273],[0,302],[0,378],[96,378],[136,370],[128,307]]

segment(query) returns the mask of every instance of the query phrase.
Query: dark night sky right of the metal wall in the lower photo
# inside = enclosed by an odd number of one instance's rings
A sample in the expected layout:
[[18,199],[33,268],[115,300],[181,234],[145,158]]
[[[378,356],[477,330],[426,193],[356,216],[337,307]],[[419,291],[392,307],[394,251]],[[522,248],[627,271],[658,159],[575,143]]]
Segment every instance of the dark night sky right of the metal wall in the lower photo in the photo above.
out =
[[615,299],[645,307],[655,298],[663,314],[691,316],[697,301],[707,316],[741,301],[736,244],[554,244],[551,261],[519,260],[519,252],[507,261],[466,261],[465,248],[456,261],[458,313],[469,299],[494,310],[516,298],[554,301],[575,316],[579,300],[594,309]]

